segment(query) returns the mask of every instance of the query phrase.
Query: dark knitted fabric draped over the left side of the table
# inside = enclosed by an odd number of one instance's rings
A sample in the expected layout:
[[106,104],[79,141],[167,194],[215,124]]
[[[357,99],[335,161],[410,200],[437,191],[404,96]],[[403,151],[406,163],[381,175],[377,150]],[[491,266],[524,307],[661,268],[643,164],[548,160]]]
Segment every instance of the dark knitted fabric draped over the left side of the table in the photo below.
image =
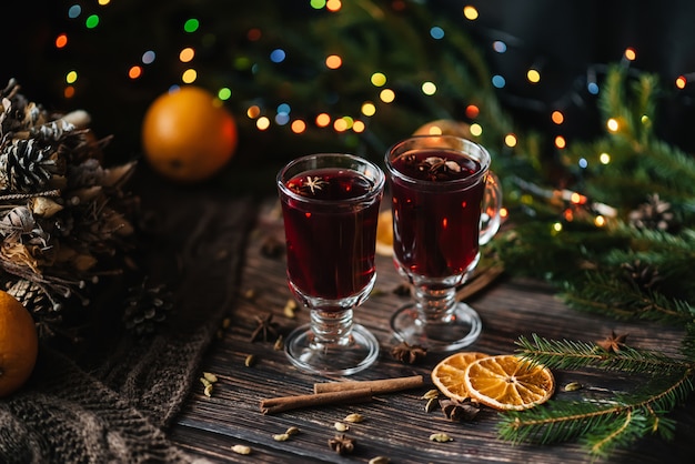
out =
[[30,381],[0,399],[0,463],[194,462],[165,427],[233,303],[253,205],[175,189],[149,201],[159,225],[147,254],[153,274],[175,274],[172,320],[157,336],[119,339],[97,362],[41,346]]

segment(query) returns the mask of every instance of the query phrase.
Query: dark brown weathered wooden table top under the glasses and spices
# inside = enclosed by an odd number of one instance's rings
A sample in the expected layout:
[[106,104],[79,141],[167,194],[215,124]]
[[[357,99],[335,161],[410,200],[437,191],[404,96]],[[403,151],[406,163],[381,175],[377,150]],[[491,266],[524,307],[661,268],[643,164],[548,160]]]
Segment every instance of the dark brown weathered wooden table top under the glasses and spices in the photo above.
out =
[[[195,385],[175,424],[168,431],[173,442],[192,455],[212,462],[272,462],[272,463],[357,463],[375,456],[387,456],[392,463],[447,463],[447,462],[508,462],[508,463],[588,463],[590,456],[577,443],[562,445],[512,445],[498,440],[495,412],[482,408],[473,422],[451,422],[441,411],[425,412],[421,396],[432,389],[430,372],[445,354],[429,353],[423,362],[403,364],[391,355],[395,344],[389,331],[391,313],[402,305],[405,296],[393,290],[402,283],[391,259],[379,256],[379,292],[356,311],[356,320],[380,341],[381,354],[375,365],[351,380],[375,380],[421,374],[422,389],[379,395],[370,403],[322,406],[264,415],[261,399],[312,393],[315,382],[329,379],[309,375],[293,367],[282,351],[274,347],[274,339],[250,342],[256,327],[255,316],[273,314],[283,332],[308,321],[308,311],[301,310],[295,319],[284,315],[283,309],[291,297],[285,284],[284,252],[269,258],[262,252],[269,235],[282,236],[282,225],[276,209],[262,209],[256,230],[249,239],[243,278],[239,296],[231,307],[231,325],[221,330],[201,366],[216,374],[219,381],[210,397],[203,384]],[[250,295],[253,293],[253,296]],[[493,285],[477,293],[469,302],[480,312],[484,329],[481,339],[471,350],[512,353],[520,335],[538,335],[551,339],[583,341],[603,340],[612,330],[628,333],[631,346],[658,349],[676,353],[682,333],[675,327],[652,323],[622,323],[596,315],[578,313],[566,307],[546,285],[523,279],[502,276]],[[253,366],[245,366],[246,357],[255,357]],[[634,385],[631,379],[607,377],[584,372],[555,372],[560,395],[571,395],[562,386],[578,381],[587,386],[605,389]],[[620,386],[618,386],[620,385]],[[350,413],[360,413],[365,420],[352,424],[345,434],[356,441],[352,454],[340,456],[330,450],[329,438],[338,432],[333,425]],[[631,450],[614,453],[610,462],[692,463],[695,458],[695,399],[679,407],[674,417],[678,421],[676,440],[663,442],[647,437]],[[301,433],[279,442],[274,434],[296,426]],[[453,437],[449,443],[430,440],[434,432],[445,432]],[[251,455],[231,451],[236,444],[252,448]]]

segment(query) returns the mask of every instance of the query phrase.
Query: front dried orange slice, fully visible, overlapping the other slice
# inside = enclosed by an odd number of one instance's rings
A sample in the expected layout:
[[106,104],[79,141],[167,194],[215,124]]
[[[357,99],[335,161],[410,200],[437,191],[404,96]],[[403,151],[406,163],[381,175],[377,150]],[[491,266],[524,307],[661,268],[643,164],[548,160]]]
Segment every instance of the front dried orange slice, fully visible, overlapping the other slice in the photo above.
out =
[[555,392],[550,369],[512,354],[471,362],[464,381],[472,400],[502,411],[527,410],[546,402]]

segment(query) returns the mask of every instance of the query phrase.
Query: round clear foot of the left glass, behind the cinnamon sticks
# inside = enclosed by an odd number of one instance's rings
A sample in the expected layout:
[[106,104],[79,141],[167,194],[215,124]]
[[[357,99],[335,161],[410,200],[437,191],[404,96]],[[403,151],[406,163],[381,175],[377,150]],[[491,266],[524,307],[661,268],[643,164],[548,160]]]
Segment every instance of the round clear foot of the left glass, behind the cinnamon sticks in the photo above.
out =
[[314,343],[311,325],[296,327],[288,335],[285,354],[304,372],[322,375],[350,375],[367,369],[379,357],[379,342],[365,327],[352,326],[345,343]]

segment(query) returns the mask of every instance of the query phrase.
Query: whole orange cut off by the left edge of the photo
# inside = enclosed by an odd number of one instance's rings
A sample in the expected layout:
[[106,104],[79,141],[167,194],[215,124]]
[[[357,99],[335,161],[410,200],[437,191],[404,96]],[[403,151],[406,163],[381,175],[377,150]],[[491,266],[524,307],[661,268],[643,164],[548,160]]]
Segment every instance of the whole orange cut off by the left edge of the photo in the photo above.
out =
[[38,354],[33,317],[14,296],[0,291],[0,397],[27,382]]

